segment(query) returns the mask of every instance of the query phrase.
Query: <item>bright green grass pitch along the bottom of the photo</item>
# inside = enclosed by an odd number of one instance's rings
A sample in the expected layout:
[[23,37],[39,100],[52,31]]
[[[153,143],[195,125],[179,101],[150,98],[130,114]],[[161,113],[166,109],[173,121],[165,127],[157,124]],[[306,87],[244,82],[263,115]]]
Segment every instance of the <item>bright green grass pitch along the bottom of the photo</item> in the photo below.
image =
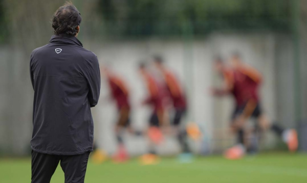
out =
[[[0,182],[30,182],[29,159],[1,159]],[[64,182],[58,166],[51,182]],[[137,159],[116,165],[111,161],[87,167],[87,183],[306,183],[307,154],[262,153],[238,161],[220,156],[199,157],[190,164],[176,158],[163,158],[158,165],[142,166]]]

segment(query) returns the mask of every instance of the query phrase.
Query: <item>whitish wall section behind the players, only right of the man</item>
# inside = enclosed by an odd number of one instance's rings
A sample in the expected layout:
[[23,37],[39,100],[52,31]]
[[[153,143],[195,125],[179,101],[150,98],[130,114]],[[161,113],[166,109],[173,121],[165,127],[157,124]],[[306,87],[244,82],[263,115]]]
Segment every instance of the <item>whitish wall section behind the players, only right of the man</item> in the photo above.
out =
[[[218,76],[212,71],[212,58],[220,54],[227,59],[233,51],[239,51],[248,64],[256,67],[264,74],[265,82],[261,88],[262,107],[271,117],[277,119],[276,113],[276,73],[275,73],[275,36],[214,34],[206,39],[184,43],[178,40],[148,39],[142,41],[105,42],[93,45],[101,63],[111,63],[114,70],[125,77],[131,90],[133,104],[133,125],[145,129],[149,110],[140,108],[139,103],[146,95],[146,90],[137,72],[140,60],[148,60],[150,56],[160,54],[167,66],[178,74],[189,94],[190,118],[205,129],[206,137],[211,141],[211,147],[223,149],[233,144],[233,138],[228,133],[229,117],[232,112],[232,98],[213,99],[209,88],[218,85]],[[190,75],[191,74],[191,75]],[[101,101],[95,109],[96,139],[100,147],[109,152],[116,149],[113,125],[116,120],[115,104],[103,100],[108,96],[108,88],[103,80]],[[146,151],[146,141],[129,137],[128,148],[132,153]],[[270,140],[271,139],[271,140]],[[267,144],[272,144],[273,138],[268,138]],[[196,150],[200,144],[196,144]],[[162,144],[161,153],[178,151],[178,145],[173,138]]]

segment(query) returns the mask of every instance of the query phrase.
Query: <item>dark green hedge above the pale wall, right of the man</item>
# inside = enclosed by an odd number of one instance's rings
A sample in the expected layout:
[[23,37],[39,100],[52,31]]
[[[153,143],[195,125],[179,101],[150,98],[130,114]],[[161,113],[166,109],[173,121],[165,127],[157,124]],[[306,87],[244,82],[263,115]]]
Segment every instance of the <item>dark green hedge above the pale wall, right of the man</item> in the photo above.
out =
[[195,35],[290,30],[290,0],[100,0],[98,8],[111,35],[181,35],[187,22]]

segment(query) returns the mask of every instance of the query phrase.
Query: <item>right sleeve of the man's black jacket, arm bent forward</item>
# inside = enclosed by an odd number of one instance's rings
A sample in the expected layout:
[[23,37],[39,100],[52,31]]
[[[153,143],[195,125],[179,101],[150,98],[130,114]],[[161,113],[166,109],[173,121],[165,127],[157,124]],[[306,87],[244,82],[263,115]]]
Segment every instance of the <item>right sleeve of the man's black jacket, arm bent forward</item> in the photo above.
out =
[[87,85],[90,90],[87,94],[87,99],[89,99],[90,106],[95,107],[98,103],[100,95],[100,69],[97,56],[94,55],[91,60],[86,63],[86,70],[84,74]]

